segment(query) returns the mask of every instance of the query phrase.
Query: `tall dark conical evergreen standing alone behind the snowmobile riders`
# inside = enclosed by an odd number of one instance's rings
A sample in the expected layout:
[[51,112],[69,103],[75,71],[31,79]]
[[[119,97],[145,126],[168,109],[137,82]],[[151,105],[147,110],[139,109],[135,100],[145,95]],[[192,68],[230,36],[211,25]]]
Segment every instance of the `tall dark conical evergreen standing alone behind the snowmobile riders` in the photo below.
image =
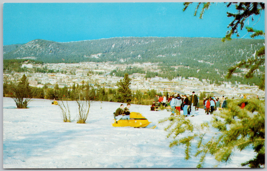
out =
[[131,102],[132,100],[132,92],[130,90],[130,81],[131,79],[128,77],[128,74],[125,73],[123,80],[117,82],[118,93],[116,94],[117,102]]

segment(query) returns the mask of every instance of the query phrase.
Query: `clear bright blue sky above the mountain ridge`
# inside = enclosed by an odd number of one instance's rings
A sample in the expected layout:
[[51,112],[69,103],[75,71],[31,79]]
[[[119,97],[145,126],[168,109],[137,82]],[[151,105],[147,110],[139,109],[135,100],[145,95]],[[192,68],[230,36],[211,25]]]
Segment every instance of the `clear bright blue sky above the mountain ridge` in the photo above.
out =
[[[224,3],[214,3],[203,19],[196,4],[154,3],[4,3],[3,45],[34,39],[56,42],[110,37],[224,37],[233,20]],[[200,11],[200,10],[199,10]],[[255,22],[258,17],[254,16]],[[264,11],[255,29],[265,30]],[[255,23],[254,22],[254,23]],[[247,24],[252,26],[251,20]],[[241,37],[247,33],[240,32]],[[249,38],[249,35],[244,38]]]

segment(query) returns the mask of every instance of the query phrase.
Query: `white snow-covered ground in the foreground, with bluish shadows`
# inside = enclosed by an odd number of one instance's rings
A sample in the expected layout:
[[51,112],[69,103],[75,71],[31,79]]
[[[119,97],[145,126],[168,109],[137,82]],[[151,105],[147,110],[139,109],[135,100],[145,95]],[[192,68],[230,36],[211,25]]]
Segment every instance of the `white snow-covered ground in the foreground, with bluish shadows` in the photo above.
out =
[[[131,105],[130,110],[142,113],[155,129],[113,127],[115,102],[93,102],[87,124],[76,123],[77,107],[71,106],[72,123],[64,123],[60,109],[51,100],[33,99],[28,109],[17,109],[11,98],[3,98],[3,167],[4,168],[196,168],[199,157],[185,160],[184,146],[169,148],[171,139],[158,124],[170,112],[150,111],[150,106]],[[200,124],[211,115],[188,117]],[[251,149],[237,152],[230,162],[219,168],[240,168],[240,163],[255,154]],[[218,163],[207,156],[204,167]]]

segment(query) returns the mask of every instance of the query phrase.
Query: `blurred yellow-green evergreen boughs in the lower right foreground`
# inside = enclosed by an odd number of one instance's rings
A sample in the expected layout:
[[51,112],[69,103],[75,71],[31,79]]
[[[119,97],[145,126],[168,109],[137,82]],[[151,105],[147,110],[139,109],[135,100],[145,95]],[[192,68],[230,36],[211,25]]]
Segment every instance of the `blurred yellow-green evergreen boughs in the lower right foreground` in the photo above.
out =
[[[246,106],[242,109],[241,104]],[[214,113],[210,123],[200,126],[192,124],[183,116],[169,117],[160,122],[169,121],[165,130],[168,138],[174,139],[170,147],[185,144],[185,159],[190,158],[193,140],[197,140],[197,152],[200,156],[196,167],[204,167],[207,154],[218,162],[227,162],[234,155],[234,150],[242,151],[250,145],[257,155],[241,166],[251,168],[265,165],[265,102],[258,99],[229,100],[228,108]],[[212,130],[217,130],[213,132]],[[179,135],[185,136],[179,138]]]

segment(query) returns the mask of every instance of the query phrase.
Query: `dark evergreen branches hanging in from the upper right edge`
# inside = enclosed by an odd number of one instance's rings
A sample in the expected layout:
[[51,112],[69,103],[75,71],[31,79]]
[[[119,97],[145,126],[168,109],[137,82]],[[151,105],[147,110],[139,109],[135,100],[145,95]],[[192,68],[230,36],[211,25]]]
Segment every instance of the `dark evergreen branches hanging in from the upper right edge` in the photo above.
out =
[[[192,2],[185,2],[184,3],[184,9],[191,4]],[[210,2],[199,2],[197,4],[197,7],[195,9],[194,15],[196,16],[197,11],[200,7],[200,5],[203,5],[202,10],[200,12],[199,18],[202,18],[204,15],[204,11],[209,9],[209,7],[213,4]],[[231,37],[233,34],[236,34],[237,37],[239,37],[238,29],[242,30],[245,26],[245,22],[249,19],[251,16],[252,21],[254,21],[253,15],[261,15],[261,12],[265,9],[264,2],[229,2],[226,7],[230,7],[231,5],[235,5],[236,12],[231,13],[227,12],[228,17],[232,17],[233,21],[229,23],[228,28],[230,27],[230,30],[226,32],[225,37],[222,39],[224,42],[226,40],[231,40]],[[252,34],[250,37],[254,38],[256,36],[265,36],[265,33],[262,30],[255,30],[251,27],[245,27],[247,29],[247,32],[251,32]],[[245,58],[238,62],[237,65],[231,66],[231,68],[228,69],[228,75],[227,77],[230,78],[232,74],[239,68],[244,67],[249,69],[249,71],[246,73],[246,78],[251,78],[254,76],[254,71],[259,69],[260,66],[265,65],[265,46],[261,47],[260,49],[257,49],[257,52],[255,56],[251,54],[251,57]],[[265,89],[265,77],[262,77],[260,83],[257,85],[260,89]]]

